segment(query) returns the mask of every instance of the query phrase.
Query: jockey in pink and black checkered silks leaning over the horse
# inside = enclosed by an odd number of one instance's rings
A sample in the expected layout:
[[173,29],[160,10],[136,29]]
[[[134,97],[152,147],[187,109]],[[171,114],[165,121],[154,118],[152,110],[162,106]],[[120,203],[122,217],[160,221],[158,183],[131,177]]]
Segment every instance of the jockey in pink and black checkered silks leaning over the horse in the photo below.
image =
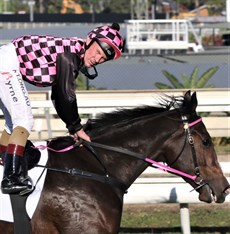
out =
[[[78,114],[75,94],[79,71],[88,78],[97,76],[95,66],[121,56],[123,39],[120,26],[101,26],[86,40],[44,35],[22,36],[0,47],[0,108],[5,129],[0,138],[4,164],[1,190],[4,194],[31,190],[24,156],[33,127],[30,100],[24,81],[38,87],[51,86],[51,99],[69,134],[90,141]],[[89,74],[94,68],[95,74]]]

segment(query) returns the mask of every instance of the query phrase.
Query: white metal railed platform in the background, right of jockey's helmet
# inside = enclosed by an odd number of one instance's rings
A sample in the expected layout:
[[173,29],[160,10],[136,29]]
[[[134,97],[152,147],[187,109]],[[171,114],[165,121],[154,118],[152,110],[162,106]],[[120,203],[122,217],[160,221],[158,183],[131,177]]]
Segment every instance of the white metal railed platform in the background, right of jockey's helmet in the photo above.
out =
[[[129,53],[136,50],[204,50],[187,20],[127,20],[126,25]],[[189,41],[189,32],[194,35],[196,43]]]

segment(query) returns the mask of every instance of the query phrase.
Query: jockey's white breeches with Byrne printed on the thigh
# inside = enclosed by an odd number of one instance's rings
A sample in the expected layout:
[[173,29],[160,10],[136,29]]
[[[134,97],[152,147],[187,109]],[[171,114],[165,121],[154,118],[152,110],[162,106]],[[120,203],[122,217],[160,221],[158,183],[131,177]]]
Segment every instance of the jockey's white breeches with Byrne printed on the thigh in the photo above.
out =
[[11,134],[15,127],[24,127],[29,133],[33,115],[27,89],[19,71],[15,47],[0,47],[0,109],[5,117],[5,130]]

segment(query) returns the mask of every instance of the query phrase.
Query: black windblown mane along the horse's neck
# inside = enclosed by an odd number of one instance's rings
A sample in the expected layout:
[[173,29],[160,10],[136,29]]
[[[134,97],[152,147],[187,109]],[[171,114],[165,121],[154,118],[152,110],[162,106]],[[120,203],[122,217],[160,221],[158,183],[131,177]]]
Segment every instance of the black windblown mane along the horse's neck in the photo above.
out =
[[184,97],[183,96],[169,96],[164,95],[160,97],[160,101],[157,106],[140,106],[132,109],[117,109],[113,112],[103,113],[98,118],[91,119],[89,121],[87,129],[107,129],[113,125],[124,125],[130,123],[138,118],[143,118],[150,115],[157,115],[163,112],[170,111],[173,109],[179,109],[183,107]]

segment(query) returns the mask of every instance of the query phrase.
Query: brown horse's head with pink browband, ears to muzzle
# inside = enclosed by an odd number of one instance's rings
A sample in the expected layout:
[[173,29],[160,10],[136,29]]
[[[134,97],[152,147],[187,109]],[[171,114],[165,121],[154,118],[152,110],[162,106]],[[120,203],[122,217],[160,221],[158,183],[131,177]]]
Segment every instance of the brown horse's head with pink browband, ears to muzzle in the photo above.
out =
[[167,142],[165,154],[171,157],[165,159],[169,166],[196,176],[195,181],[184,179],[199,192],[201,201],[222,203],[230,193],[230,186],[218,163],[211,137],[196,114],[197,103],[196,93],[191,95],[188,91],[175,109],[180,110],[182,121]]

